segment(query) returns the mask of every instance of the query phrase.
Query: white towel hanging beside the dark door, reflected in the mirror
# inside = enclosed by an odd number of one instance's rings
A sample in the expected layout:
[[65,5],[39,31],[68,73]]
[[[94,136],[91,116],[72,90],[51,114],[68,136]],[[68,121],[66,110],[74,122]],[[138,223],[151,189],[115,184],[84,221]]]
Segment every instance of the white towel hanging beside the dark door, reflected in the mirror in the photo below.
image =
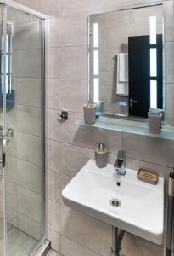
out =
[[128,75],[128,53],[117,55],[117,84],[116,94],[122,96],[129,95],[129,75]]

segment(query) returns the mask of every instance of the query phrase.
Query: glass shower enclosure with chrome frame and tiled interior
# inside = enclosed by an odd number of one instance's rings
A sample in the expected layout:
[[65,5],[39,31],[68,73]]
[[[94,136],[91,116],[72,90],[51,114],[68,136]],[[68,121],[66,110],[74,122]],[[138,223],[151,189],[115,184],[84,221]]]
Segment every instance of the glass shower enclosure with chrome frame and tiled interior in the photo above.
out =
[[0,256],[47,245],[44,18],[0,0]]

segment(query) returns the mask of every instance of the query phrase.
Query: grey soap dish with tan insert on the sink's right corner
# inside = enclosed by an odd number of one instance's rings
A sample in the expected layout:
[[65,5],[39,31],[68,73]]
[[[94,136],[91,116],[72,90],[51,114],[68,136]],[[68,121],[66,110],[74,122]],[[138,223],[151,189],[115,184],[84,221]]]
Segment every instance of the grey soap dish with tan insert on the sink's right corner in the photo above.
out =
[[158,174],[156,172],[151,172],[140,168],[138,170],[137,177],[145,183],[150,183],[153,185],[158,183]]

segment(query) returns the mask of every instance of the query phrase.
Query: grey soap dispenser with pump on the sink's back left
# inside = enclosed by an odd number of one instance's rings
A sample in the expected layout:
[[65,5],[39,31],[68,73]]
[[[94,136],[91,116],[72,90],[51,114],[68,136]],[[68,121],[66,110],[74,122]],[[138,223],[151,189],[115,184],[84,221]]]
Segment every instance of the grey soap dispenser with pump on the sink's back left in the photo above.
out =
[[107,165],[108,150],[105,148],[104,143],[99,143],[98,148],[95,149],[95,161],[99,168],[104,168]]

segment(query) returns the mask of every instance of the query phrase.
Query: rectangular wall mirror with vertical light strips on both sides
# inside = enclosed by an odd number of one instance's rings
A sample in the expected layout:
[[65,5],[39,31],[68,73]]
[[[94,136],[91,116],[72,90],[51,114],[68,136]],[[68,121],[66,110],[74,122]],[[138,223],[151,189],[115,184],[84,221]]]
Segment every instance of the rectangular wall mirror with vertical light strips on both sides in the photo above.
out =
[[163,5],[89,15],[89,101],[147,118],[164,106]]

